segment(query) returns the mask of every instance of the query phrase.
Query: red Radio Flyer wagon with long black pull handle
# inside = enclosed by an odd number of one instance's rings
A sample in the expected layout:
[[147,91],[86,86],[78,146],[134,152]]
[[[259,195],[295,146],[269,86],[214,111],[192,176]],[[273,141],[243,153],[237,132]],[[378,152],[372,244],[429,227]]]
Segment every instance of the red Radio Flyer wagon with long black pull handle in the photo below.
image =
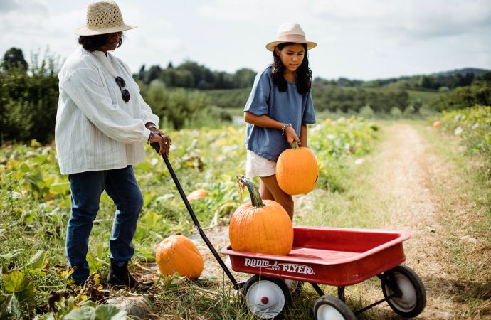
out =
[[[159,151],[159,144],[152,146]],[[406,260],[402,245],[409,238],[406,231],[295,227],[293,247],[286,256],[238,252],[228,246],[221,252],[231,258],[232,270],[255,274],[246,282],[237,282],[201,228],[169,159],[165,154],[162,159],[201,238],[234,289],[243,293],[253,314],[263,319],[285,316],[295,289],[293,284],[302,282],[312,284],[320,295],[314,304],[315,319],[356,319],[355,314],[385,301],[405,318],[423,311],[426,304],[423,283],[416,272],[401,265]],[[344,287],[374,276],[381,279],[384,299],[357,311],[349,309],[344,303]],[[324,294],[319,284],[337,286],[338,297]]]

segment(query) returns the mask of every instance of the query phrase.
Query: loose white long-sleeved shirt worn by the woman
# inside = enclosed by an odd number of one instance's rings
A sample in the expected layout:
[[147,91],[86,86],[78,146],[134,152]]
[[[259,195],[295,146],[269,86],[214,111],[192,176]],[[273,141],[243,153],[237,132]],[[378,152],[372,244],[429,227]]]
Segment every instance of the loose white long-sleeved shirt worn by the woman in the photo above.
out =
[[[115,82],[126,82],[130,101]],[[82,47],[58,73],[60,97],[55,142],[61,174],[125,168],[144,161],[143,143],[159,117],[139,94],[130,68],[114,55]]]

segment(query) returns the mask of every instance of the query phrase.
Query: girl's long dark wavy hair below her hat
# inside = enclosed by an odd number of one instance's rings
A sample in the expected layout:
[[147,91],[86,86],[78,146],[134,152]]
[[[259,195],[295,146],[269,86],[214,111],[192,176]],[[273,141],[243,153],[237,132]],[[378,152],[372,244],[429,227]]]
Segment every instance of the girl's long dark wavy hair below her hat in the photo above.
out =
[[[280,43],[276,46],[279,50],[282,50],[286,46],[291,46],[296,43],[285,42]],[[305,92],[309,92],[310,87],[312,87],[312,70],[309,68],[309,58],[307,54],[307,44],[301,43],[305,49],[305,55],[303,57],[302,64],[297,68],[295,74],[297,75],[297,91],[300,95]],[[273,63],[271,64],[271,77],[273,78],[273,83],[278,87],[278,89],[283,92],[287,90],[287,80],[283,76],[285,70],[285,65],[281,62],[280,56],[276,54],[273,50]]]

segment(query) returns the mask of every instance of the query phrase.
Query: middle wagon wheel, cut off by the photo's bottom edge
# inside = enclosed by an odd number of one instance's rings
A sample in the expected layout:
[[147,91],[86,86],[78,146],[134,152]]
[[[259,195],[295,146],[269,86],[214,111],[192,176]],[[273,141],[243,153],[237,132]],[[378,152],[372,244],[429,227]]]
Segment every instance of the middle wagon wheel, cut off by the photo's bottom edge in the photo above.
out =
[[324,294],[314,304],[316,320],[356,320],[357,317],[349,307],[337,297]]

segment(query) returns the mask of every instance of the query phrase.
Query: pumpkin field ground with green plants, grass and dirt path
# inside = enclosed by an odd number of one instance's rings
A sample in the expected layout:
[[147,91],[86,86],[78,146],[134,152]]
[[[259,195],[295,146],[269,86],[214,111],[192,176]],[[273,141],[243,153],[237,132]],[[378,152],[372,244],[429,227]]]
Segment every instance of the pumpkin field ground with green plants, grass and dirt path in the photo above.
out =
[[[320,164],[320,181],[315,191],[295,198],[294,225],[408,230],[412,238],[405,242],[406,264],[419,274],[428,294],[421,319],[485,319],[491,316],[487,162],[475,152],[464,152],[467,146],[448,134],[450,124],[442,128],[448,129],[433,129],[430,122],[373,123],[356,117],[326,119],[310,127],[309,146]],[[191,205],[219,250],[228,242],[228,220],[241,201],[236,175],[243,174],[245,164],[243,127],[170,134],[174,147],[169,159],[184,191],[208,191]],[[144,297],[158,319],[253,319],[196,235],[162,159],[147,147],[147,161],[134,169],[145,205],[130,268],[140,279],[157,282],[148,292],[98,286],[93,288],[98,291],[83,292],[67,279],[64,239],[70,191],[66,176],[59,174],[53,146],[31,142],[1,149],[2,319],[83,319],[84,312],[120,319],[119,311],[93,301],[94,292],[105,298]],[[88,261],[101,279],[107,276],[114,210],[104,195],[90,238]],[[155,245],[175,234],[189,236],[204,255],[200,279],[159,277]],[[68,294],[50,313],[50,292],[63,289]],[[335,288],[322,289],[336,295]],[[352,309],[380,297],[375,280],[347,288]],[[317,298],[305,285],[294,297],[288,319],[312,319]],[[361,314],[361,319],[393,318],[387,304]]]

